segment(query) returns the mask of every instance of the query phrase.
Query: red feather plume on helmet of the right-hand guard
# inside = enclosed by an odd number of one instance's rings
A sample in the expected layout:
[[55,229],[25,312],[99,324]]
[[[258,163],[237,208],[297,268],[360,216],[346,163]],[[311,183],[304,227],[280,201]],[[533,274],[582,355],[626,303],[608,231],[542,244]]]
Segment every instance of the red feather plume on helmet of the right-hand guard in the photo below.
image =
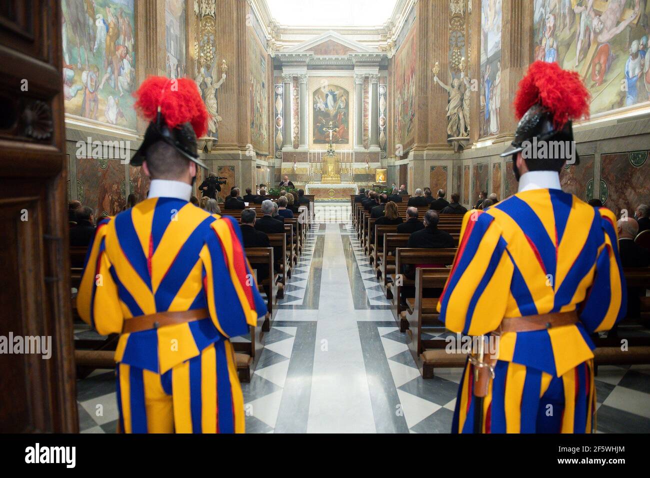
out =
[[577,72],[538,60],[519,82],[514,103],[517,118],[537,103],[552,112],[553,127],[562,129],[569,120],[588,118],[590,94]]

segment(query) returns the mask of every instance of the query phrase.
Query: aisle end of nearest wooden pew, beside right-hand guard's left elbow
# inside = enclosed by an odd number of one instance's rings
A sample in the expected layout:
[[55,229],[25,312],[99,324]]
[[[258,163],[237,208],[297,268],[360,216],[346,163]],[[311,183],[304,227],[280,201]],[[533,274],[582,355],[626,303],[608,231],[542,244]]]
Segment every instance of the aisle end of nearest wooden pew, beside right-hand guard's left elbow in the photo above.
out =
[[445,350],[447,341],[442,339],[423,339],[422,333],[425,326],[437,327],[445,330],[445,326],[438,320],[439,314],[436,307],[438,299],[423,297],[426,289],[442,289],[445,287],[449,269],[423,269],[415,271],[415,298],[407,299],[408,310],[406,320],[409,329],[408,347],[413,360],[417,364],[422,378],[433,378],[434,367],[463,367],[467,354],[448,353]]

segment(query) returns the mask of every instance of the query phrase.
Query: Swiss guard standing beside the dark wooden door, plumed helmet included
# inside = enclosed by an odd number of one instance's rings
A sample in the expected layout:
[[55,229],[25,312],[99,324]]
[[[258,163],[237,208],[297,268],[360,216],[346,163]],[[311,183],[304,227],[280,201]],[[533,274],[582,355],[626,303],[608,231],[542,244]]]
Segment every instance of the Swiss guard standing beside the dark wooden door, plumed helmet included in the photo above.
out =
[[208,114],[190,79],[149,77],[135,93],[150,121],[131,159],[149,196],[98,224],[77,308],[99,334],[118,333],[119,429],[126,433],[241,433],[244,401],[229,338],[266,306],[239,225],[189,202],[196,138]]

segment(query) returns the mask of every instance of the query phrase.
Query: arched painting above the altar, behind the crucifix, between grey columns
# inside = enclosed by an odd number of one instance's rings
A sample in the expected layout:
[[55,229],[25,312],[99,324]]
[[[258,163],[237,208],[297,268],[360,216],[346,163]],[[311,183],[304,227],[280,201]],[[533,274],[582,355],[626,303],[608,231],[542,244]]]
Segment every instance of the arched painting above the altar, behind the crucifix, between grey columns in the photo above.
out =
[[350,142],[350,92],[341,85],[323,83],[311,94],[314,108],[313,143],[329,144],[330,132],[325,128],[336,128],[332,133],[333,144]]

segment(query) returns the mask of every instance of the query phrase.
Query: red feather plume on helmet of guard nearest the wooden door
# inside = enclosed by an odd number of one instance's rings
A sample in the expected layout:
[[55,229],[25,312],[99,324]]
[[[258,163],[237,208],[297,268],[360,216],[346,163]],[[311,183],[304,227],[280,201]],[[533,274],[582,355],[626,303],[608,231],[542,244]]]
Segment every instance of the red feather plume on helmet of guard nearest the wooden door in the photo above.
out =
[[133,96],[136,98],[137,111],[147,120],[154,121],[160,107],[162,117],[170,128],[190,122],[197,138],[207,133],[209,115],[194,81],[150,76]]

